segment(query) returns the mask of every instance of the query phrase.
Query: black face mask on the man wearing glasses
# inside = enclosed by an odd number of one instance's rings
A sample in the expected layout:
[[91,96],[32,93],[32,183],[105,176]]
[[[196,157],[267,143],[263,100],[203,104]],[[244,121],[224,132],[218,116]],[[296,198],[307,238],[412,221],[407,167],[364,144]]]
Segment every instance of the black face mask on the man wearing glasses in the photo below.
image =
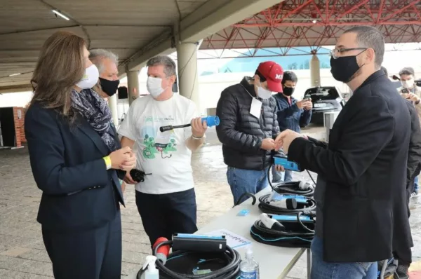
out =
[[341,56],[338,58],[330,57],[330,72],[333,79],[348,83],[351,81],[352,76],[360,69],[356,62],[356,55],[354,56]]

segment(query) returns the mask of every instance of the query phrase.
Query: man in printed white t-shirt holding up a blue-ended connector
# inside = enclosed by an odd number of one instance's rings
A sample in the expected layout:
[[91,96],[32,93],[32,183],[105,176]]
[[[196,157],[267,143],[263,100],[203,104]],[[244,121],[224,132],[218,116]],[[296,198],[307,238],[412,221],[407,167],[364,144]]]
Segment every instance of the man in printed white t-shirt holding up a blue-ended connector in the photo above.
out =
[[[196,194],[192,174],[192,151],[201,147],[208,128],[197,117],[196,105],[173,93],[175,62],[157,56],[147,62],[150,95],[131,104],[121,123],[121,145],[135,145],[137,169],[145,181],[137,183],[128,173],[125,182],[136,184],[136,205],[151,245],[157,238],[171,240],[173,233],[194,233]],[[160,132],[166,125],[191,123],[190,128]]]

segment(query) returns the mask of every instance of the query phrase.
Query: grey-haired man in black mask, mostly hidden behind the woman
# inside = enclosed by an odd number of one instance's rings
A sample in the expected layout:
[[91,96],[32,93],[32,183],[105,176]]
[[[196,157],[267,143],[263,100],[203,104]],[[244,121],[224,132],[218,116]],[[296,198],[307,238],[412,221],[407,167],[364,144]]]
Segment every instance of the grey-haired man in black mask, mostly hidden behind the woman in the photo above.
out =
[[[109,50],[97,48],[90,50],[89,60],[95,64],[100,72],[100,79],[98,84],[93,86],[93,90],[97,92],[104,100],[116,94],[120,80],[119,80],[119,57]],[[114,125],[114,123],[111,123]],[[121,181],[121,190],[126,191],[126,183]]]

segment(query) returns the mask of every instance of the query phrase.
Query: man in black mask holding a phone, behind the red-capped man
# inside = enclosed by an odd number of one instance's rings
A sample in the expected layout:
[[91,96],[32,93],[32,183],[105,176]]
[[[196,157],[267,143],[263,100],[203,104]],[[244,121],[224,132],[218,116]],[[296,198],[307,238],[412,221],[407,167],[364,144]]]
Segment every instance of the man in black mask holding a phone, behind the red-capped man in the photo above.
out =
[[[305,128],[312,120],[312,100],[304,99],[297,101],[292,97],[297,82],[298,78],[294,72],[284,72],[282,78],[283,92],[274,95],[279,130],[281,132],[287,129],[300,132],[300,128]],[[272,183],[293,181],[293,172],[291,170],[278,172],[276,171],[276,166],[272,168],[272,176]]]

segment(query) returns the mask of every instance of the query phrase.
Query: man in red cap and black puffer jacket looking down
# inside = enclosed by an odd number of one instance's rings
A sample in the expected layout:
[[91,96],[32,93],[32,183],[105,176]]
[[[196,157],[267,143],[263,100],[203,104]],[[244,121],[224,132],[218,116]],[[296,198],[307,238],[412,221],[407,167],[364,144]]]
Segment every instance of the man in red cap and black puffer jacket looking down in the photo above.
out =
[[[273,94],[282,92],[283,69],[272,61],[259,64],[253,78],[248,76],[222,91],[216,114],[216,126],[222,142],[227,179],[234,204],[258,193],[268,185],[267,169],[279,134],[276,101]],[[281,166],[276,166],[281,170]]]

